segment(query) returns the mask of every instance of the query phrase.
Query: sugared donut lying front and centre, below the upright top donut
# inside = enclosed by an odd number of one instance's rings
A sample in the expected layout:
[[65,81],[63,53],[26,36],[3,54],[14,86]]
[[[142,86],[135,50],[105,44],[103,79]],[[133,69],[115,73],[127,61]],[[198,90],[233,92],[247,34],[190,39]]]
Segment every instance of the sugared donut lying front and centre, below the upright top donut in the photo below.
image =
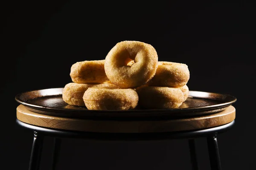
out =
[[134,89],[88,88],[84,92],[84,103],[88,110],[129,110],[139,101]]

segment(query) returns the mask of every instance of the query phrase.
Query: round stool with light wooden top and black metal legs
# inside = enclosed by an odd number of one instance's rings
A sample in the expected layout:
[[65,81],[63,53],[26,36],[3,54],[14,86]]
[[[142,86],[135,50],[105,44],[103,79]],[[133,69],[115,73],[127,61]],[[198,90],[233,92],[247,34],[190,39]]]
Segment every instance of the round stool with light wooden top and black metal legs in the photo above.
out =
[[50,116],[17,107],[16,122],[34,132],[29,170],[38,170],[44,136],[54,138],[52,170],[55,169],[61,138],[101,141],[150,141],[188,139],[192,170],[198,170],[195,139],[206,137],[212,170],[221,170],[217,134],[229,130],[235,122],[236,109],[230,105],[224,111],[183,119],[167,120],[91,120]]

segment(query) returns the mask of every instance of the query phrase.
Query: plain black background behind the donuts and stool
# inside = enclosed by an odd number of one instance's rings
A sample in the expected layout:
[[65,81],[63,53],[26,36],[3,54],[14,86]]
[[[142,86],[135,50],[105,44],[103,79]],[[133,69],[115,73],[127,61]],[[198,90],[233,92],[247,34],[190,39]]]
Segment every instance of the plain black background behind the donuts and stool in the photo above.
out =
[[[115,6],[116,5],[116,6]],[[73,63],[105,59],[123,40],[149,43],[159,61],[186,63],[193,91],[237,98],[236,124],[218,136],[223,170],[254,167],[255,5],[250,3],[40,1],[1,5],[1,166],[26,170],[32,132],[15,124],[15,95],[64,87]],[[184,170],[186,140],[87,142],[64,139],[59,170]],[[197,139],[202,170],[205,139]],[[41,170],[50,168],[46,138]]]

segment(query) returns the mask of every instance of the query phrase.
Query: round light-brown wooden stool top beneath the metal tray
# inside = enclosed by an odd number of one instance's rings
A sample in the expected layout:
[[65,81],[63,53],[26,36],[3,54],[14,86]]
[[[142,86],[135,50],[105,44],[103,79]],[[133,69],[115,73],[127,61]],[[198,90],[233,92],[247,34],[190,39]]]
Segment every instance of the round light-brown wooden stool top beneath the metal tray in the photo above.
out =
[[92,120],[49,116],[29,111],[24,105],[17,107],[17,119],[21,122],[59,130],[105,133],[156,133],[183,130],[200,130],[232,122],[236,109],[230,105],[224,111],[186,119],[166,120]]

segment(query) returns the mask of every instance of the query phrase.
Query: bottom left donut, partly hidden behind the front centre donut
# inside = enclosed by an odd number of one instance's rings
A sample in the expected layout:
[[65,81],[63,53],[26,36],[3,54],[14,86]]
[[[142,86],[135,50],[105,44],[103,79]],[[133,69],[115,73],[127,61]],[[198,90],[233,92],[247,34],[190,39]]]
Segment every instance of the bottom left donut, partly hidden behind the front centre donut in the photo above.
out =
[[63,88],[62,99],[69,105],[85,106],[83,95],[84,92],[90,87],[118,88],[116,85],[113,85],[111,83],[88,84],[70,82],[66,84]]

